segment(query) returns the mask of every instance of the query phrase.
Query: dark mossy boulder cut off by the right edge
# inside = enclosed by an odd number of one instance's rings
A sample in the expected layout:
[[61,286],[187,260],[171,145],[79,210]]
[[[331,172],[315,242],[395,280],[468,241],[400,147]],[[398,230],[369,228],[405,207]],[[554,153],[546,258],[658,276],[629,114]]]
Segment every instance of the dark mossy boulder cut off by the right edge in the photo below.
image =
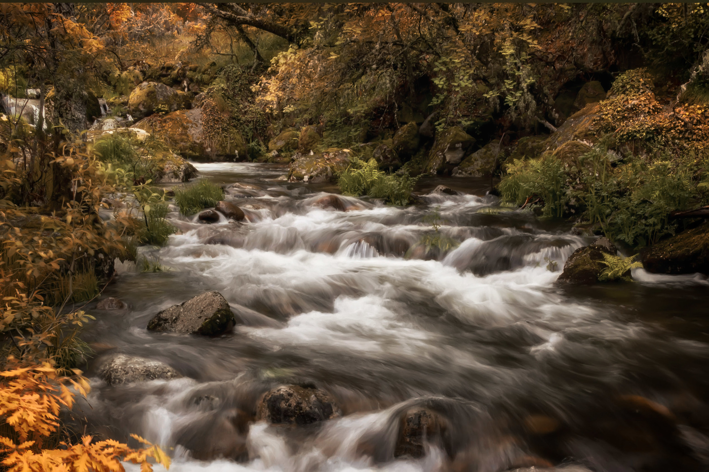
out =
[[656,274],[709,275],[709,222],[644,249],[640,260]]

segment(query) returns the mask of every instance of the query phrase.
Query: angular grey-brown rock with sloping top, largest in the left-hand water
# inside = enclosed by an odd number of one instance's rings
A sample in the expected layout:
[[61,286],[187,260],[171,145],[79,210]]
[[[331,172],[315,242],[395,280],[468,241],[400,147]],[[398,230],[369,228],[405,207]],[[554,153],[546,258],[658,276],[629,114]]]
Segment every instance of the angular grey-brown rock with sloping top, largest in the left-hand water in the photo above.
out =
[[213,291],[162,310],[150,320],[147,330],[216,336],[228,330],[233,323],[234,315],[229,303],[220,293]]

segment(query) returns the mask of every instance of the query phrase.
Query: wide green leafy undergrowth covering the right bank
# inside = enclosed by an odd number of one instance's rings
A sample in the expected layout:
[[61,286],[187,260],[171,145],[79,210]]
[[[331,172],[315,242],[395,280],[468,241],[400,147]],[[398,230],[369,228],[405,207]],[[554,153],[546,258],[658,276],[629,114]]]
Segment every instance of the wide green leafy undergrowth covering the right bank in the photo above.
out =
[[686,152],[674,159],[627,157],[611,165],[594,148],[566,165],[553,156],[515,161],[498,185],[518,205],[538,198],[547,216],[577,214],[613,241],[632,247],[674,234],[674,210],[709,203],[709,154]]

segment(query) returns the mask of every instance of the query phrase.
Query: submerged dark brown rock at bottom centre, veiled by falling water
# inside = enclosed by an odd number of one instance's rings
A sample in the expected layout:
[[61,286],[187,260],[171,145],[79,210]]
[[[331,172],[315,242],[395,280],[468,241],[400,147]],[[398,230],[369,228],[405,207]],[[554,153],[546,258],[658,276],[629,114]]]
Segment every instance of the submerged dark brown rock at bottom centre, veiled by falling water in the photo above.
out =
[[401,417],[401,429],[394,457],[422,457],[424,444],[440,442],[446,432],[445,421],[437,413],[425,408],[413,408]]

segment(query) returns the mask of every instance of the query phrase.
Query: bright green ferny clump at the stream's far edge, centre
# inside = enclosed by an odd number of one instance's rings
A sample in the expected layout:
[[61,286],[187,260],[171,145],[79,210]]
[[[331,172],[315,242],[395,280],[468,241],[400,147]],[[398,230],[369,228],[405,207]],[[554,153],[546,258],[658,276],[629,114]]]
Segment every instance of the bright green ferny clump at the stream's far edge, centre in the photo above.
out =
[[393,205],[406,205],[418,177],[393,175],[379,170],[372,158],[365,162],[354,157],[352,164],[340,173],[337,184],[344,195],[383,198]]

